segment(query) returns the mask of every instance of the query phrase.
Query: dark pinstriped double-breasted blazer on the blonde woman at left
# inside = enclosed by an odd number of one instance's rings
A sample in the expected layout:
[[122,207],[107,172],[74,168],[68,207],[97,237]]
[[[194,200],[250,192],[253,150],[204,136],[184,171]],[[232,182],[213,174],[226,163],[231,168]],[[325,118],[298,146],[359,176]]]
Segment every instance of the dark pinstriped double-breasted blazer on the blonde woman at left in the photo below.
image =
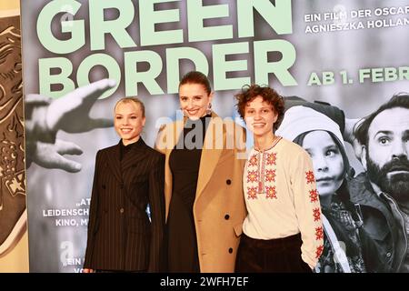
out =
[[120,144],[96,154],[84,267],[157,272],[165,251],[165,156],[142,138],[120,154]]

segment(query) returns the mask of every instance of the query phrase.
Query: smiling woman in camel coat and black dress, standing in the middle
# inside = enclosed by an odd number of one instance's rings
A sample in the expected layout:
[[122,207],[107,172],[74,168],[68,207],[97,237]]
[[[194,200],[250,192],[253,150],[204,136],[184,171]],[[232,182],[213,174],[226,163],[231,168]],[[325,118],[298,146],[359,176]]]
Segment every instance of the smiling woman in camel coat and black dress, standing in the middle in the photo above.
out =
[[169,272],[233,272],[246,210],[244,128],[211,110],[213,92],[200,72],[179,85],[184,120],[164,125]]

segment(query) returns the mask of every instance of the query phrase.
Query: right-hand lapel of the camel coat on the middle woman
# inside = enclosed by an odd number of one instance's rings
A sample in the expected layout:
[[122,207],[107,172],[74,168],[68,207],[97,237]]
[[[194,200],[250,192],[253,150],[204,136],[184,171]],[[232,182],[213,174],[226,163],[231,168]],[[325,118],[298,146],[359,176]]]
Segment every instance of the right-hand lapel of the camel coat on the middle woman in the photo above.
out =
[[[222,130],[223,134],[220,133]],[[205,143],[200,157],[199,177],[196,187],[196,200],[202,195],[205,186],[214,173],[214,168],[222,155],[225,145],[225,131],[223,120],[216,114],[207,127]]]

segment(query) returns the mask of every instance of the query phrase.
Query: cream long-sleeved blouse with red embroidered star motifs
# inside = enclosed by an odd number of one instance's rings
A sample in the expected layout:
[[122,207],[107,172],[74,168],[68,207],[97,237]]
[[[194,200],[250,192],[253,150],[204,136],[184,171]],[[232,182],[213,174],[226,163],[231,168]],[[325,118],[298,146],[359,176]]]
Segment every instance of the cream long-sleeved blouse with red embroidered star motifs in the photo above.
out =
[[246,236],[274,239],[301,233],[302,258],[311,268],[323,252],[321,206],[310,156],[284,138],[264,151],[252,148],[245,163]]

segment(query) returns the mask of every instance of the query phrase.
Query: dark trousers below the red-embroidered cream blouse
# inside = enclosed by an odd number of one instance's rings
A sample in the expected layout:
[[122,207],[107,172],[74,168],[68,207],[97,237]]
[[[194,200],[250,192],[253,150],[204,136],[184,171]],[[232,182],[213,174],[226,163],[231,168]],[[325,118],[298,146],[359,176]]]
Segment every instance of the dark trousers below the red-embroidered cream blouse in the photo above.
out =
[[264,240],[244,234],[235,262],[238,273],[312,273],[301,258],[301,235]]

